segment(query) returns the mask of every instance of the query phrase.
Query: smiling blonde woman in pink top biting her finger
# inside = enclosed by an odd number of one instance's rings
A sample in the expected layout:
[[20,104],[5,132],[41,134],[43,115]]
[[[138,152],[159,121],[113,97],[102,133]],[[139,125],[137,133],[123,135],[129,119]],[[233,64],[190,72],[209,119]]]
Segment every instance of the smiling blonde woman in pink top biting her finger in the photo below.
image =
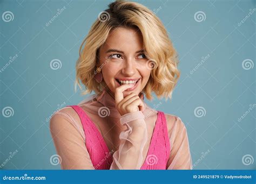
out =
[[192,169],[184,123],[144,102],[152,92],[171,98],[177,64],[154,13],[134,2],[111,3],[92,25],[76,65],[76,84],[96,94],[50,121],[61,167]]

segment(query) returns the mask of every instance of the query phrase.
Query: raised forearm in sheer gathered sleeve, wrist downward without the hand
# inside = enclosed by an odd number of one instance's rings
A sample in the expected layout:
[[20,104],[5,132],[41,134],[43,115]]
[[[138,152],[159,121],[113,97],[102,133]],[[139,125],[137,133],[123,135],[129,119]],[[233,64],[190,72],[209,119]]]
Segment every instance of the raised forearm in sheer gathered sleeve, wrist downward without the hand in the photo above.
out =
[[120,118],[127,129],[120,133],[120,145],[113,154],[110,169],[140,169],[143,164],[143,148],[147,141],[147,129],[142,111],[131,112]]

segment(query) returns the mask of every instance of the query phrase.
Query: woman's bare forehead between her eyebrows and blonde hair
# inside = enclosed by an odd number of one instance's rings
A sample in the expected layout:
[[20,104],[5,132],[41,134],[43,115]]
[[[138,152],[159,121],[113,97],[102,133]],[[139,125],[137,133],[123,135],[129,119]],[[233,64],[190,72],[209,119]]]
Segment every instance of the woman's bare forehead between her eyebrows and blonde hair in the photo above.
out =
[[125,51],[138,51],[143,48],[143,37],[137,29],[118,27],[110,31],[103,50],[115,48]]

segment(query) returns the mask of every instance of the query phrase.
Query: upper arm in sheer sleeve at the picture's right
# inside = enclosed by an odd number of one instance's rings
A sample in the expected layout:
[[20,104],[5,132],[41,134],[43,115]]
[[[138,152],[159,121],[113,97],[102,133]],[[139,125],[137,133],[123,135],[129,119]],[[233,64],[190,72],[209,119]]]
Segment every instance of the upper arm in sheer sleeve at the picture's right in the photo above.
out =
[[167,169],[192,169],[192,158],[184,123],[177,116],[166,115],[171,154]]

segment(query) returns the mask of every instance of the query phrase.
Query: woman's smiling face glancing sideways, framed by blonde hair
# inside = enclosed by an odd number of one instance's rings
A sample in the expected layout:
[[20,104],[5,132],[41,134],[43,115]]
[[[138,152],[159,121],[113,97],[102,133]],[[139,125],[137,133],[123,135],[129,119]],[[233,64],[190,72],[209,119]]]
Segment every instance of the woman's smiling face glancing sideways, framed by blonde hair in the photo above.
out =
[[134,83],[134,87],[123,92],[139,94],[149,80],[151,70],[146,66],[147,58],[143,50],[142,34],[134,29],[118,27],[109,33],[99,49],[99,65],[107,87],[112,94],[124,83]]

